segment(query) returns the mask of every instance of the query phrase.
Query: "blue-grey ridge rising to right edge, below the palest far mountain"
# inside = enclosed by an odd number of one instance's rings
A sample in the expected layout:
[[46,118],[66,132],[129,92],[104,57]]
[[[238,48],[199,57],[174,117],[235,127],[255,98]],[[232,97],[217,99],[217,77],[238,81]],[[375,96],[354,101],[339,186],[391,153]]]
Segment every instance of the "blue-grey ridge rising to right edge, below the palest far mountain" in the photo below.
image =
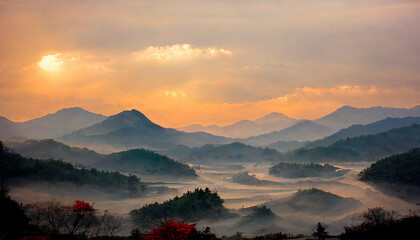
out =
[[[352,125],[348,128],[342,129],[331,136],[325,137],[321,140],[309,142],[305,145],[306,148],[328,146],[334,142],[348,137],[357,137],[361,135],[377,134],[386,132],[394,128],[401,128],[411,126],[413,124],[420,124],[420,117],[406,117],[406,118],[386,118],[367,125]],[[270,145],[271,147],[271,145]]]

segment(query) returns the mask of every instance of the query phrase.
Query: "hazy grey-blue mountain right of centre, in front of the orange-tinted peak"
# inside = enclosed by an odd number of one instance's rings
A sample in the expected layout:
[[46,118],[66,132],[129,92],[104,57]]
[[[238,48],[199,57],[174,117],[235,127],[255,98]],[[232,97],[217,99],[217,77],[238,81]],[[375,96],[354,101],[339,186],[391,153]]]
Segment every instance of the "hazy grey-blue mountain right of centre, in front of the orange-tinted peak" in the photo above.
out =
[[281,131],[274,131],[256,137],[244,139],[243,142],[253,146],[266,146],[279,141],[308,141],[325,137],[333,133],[327,126],[313,121],[302,120],[295,125]]

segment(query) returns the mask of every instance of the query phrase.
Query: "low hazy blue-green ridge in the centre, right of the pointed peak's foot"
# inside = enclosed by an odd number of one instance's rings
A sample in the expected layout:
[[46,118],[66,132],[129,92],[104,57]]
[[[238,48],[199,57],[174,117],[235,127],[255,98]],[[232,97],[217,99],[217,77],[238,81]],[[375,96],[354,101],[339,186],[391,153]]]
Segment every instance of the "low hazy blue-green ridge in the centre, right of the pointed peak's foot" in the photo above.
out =
[[239,142],[223,145],[207,144],[193,148],[177,146],[164,153],[178,161],[188,163],[273,162],[278,161],[281,156],[276,150],[253,147]]

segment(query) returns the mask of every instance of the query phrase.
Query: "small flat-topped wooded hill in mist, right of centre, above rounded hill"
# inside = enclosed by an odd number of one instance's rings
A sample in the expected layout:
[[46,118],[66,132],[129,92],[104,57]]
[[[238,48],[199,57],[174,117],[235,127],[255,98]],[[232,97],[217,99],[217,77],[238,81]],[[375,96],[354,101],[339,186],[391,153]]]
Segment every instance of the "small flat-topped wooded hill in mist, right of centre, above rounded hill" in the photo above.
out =
[[299,164],[277,163],[269,169],[269,174],[283,178],[306,178],[306,177],[340,177],[348,173],[347,169],[340,169],[330,164]]

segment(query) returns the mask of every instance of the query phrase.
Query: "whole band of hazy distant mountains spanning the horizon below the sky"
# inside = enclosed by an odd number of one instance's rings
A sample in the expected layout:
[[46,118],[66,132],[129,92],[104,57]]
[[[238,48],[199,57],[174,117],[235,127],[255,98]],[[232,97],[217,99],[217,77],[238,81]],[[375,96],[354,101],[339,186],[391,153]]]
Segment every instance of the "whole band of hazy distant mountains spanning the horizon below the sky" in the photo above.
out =
[[[0,138],[6,140],[10,138],[54,138],[72,146],[88,146],[100,152],[103,152],[104,149],[107,149],[107,152],[138,147],[162,150],[172,149],[177,145],[197,147],[205,144],[232,142],[291,150],[306,144],[305,142],[307,141],[327,137],[338,129],[346,128],[350,125],[369,124],[387,117],[401,118],[407,116],[420,117],[420,106],[410,109],[343,106],[315,121],[297,120],[281,113],[271,113],[254,121],[242,120],[225,127],[216,125],[206,127],[210,130],[219,129],[217,130],[219,131],[218,134],[225,136],[257,135],[243,138],[228,138],[202,131],[184,132],[165,128],[153,123],[143,113],[134,109],[106,117],[75,107],[62,109],[54,114],[48,114],[26,122],[12,122],[4,117],[0,117]],[[418,123],[416,119],[387,120],[383,123],[367,126],[370,130],[362,126],[352,126],[328,139],[324,139],[323,143],[309,143],[310,145],[308,146],[313,147],[316,144],[326,146],[345,137],[366,133],[376,134],[394,127],[408,126],[410,121],[411,123]],[[196,125],[196,127],[199,126]],[[200,130],[192,127],[183,129],[189,131]],[[273,129],[276,130],[272,131]],[[210,130],[208,132],[214,132]],[[258,133],[265,131],[268,131],[268,133],[258,135]]]

